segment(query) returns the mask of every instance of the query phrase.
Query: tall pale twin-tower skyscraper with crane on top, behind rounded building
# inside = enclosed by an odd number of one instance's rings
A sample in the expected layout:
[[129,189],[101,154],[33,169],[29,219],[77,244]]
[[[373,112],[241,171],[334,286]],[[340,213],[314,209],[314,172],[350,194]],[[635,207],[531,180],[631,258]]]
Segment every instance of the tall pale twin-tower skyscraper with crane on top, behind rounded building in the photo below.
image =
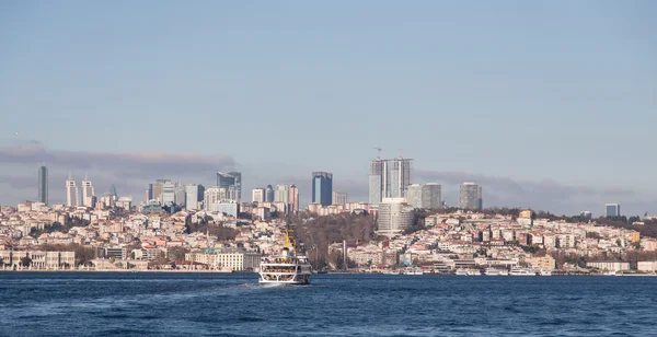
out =
[[412,163],[412,159],[405,158],[370,161],[369,202],[379,204],[383,198],[403,198],[411,185]]

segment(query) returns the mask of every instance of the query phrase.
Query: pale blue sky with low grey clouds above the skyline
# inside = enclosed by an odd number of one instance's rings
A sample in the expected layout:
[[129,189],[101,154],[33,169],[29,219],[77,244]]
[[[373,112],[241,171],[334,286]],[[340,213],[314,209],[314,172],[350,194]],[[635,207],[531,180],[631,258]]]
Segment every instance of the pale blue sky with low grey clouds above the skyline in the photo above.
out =
[[[0,204],[69,172],[243,194],[368,161],[484,206],[657,213],[655,1],[0,1]],[[18,135],[16,135],[18,132]],[[403,150],[402,150],[403,149]]]

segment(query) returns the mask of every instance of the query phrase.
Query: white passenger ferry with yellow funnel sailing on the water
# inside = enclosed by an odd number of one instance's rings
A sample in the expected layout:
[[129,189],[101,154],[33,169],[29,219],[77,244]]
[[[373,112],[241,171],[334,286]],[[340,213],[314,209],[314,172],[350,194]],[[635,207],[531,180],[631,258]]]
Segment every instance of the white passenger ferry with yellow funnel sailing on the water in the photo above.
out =
[[261,284],[309,284],[312,267],[308,257],[297,255],[290,230],[284,230],[285,246],[280,255],[263,256],[260,267]]

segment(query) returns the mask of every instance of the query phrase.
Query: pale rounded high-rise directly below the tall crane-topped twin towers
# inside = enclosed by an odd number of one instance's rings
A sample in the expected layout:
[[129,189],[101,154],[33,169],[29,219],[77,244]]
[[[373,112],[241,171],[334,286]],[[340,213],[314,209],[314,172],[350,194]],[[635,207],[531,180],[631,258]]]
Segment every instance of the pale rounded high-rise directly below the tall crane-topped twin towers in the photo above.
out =
[[413,207],[404,198],[383,198],[379,204],[377,233],[393,236],[413,225]]

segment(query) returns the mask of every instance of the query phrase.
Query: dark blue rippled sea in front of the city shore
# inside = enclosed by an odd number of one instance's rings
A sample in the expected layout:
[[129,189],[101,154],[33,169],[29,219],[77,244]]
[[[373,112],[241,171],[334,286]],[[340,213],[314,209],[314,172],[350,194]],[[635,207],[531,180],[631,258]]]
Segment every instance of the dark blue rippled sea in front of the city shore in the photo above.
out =
[[0,336],[657,336],[657,277],[0,272]]

